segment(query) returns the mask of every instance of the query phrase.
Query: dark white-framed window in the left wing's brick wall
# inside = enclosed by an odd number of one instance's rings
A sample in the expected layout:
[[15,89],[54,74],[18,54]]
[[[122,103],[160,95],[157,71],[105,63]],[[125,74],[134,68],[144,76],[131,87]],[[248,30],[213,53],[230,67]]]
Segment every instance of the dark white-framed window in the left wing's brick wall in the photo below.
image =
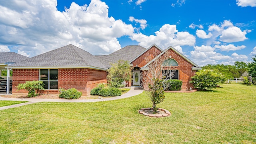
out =
[[44,89],[58,89],[58,69],[40,69],[39,80],[44,82]]

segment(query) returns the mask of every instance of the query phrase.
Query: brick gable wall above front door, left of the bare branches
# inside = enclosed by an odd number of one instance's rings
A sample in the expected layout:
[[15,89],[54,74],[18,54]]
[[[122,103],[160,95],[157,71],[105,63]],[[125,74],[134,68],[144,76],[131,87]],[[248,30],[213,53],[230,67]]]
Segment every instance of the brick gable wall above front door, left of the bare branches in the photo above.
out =
[[156,48],[155,46],[152,46],[152,48],[150,48],[148,51],[146,51],[144,54],[142,54],[141,56],[139,56],[136,60],[134,60],[132,62],[133,67],[136,67],[136,65],[138,65],[138,67],[140,67],[140,68],[145,66],[147,64],[145,61],[145,57],[146,56],[151,57],[150,60],[153,60],[155,57],[154,53],[156,55],[159,55],[161,53],[161,51],[158,48]]

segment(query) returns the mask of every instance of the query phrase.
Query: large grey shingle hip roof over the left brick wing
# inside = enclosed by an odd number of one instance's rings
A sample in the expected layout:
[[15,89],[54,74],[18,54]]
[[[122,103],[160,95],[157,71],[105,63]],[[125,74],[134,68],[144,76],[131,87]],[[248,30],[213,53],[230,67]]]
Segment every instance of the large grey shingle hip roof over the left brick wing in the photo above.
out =
[[56,50],[34,56],[22,62],[12,64],[10,67],[65,67],[70,66],[93,66],[106,69],[96,56],[86,52],[72,44]]

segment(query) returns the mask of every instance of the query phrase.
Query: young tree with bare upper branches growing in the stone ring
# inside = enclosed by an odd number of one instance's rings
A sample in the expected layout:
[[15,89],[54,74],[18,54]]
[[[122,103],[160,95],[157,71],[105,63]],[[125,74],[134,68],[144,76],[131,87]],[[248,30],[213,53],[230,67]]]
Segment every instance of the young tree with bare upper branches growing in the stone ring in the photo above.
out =
[[[155,50],[151,54],[144,56],[147,70],[141,73],[141,87],[146,91],[150,98],[154,112],[156,112],[156,104],[160,104],[164,100],[164,90],[172,83],[166,82],[174,77],[174,67],[172,67],[171,51],[165,50],[159,56],[160,52]],[[154,59],[153,59],[154,58]]]

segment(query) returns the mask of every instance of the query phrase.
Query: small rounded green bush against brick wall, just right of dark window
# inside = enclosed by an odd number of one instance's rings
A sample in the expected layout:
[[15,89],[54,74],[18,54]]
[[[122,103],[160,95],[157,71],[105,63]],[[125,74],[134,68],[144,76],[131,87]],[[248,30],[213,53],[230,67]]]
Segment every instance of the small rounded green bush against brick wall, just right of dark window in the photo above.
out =
[[82,96],[82,92],[79,92],[75,88],[70,88],[68,90],[60,89],[60,98],[65,99],[78,99]]

